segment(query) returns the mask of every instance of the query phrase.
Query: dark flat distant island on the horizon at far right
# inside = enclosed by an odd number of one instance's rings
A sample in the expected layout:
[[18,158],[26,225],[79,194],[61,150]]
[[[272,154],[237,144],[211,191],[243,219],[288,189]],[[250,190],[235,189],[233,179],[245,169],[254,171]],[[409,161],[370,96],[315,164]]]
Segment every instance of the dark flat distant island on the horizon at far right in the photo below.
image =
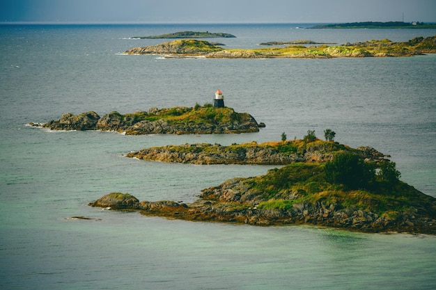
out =
[[320,24],[310,29],[436,29],[436,24],[423,22],[351,22]]

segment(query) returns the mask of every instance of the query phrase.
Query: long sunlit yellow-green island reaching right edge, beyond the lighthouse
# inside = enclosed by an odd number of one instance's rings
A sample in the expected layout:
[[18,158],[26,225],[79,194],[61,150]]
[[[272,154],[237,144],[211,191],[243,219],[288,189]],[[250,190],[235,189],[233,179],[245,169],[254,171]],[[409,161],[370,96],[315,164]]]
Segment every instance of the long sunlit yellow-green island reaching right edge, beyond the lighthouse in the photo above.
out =
[[436,53],[436,35],[407,42],[388,39],[345,43],[343,45],[289,45],[258,49],[223,49],[205,40],[173,40],[159,45],[134,47],[124,54],[159,54],[166,58],[339,58],[419,56]]

